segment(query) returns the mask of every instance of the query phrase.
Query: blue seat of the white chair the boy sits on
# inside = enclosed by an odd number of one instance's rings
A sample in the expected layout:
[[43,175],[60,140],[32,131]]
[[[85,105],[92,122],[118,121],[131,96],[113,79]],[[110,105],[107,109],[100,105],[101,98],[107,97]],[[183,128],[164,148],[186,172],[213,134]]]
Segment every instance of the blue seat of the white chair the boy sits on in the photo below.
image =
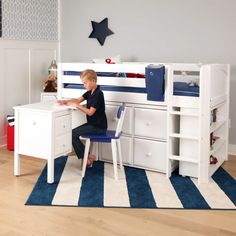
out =
[[112,139],[119,139],[120,135],[115,136],[115,130],[107,130],[106,134],[83,134],[81,138],[89,138],[91,142],[111,143]]

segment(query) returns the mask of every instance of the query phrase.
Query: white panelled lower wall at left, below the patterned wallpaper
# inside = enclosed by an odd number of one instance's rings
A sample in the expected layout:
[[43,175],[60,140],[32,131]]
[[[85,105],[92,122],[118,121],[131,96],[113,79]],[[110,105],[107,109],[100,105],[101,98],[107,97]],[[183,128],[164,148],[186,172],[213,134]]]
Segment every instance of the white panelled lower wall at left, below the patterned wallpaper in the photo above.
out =
[[0,40],[0,146],[6,143],[6,116],[12,107],[40,101],[57,42]]

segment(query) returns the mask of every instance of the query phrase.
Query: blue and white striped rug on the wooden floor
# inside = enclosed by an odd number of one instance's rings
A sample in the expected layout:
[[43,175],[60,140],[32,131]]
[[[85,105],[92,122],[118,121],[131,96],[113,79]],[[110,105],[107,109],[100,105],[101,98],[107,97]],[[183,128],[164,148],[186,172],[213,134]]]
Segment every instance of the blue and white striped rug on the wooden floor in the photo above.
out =
[[55,182],[47,184],[47,167],[42,171],[26,205],[236,209],[236,180],[219,168],[208,184],[173,173],[164,174],[125,167],[119,181],[113,166],[94,162],[81,181],[80,162],[75,156],[55,160]]

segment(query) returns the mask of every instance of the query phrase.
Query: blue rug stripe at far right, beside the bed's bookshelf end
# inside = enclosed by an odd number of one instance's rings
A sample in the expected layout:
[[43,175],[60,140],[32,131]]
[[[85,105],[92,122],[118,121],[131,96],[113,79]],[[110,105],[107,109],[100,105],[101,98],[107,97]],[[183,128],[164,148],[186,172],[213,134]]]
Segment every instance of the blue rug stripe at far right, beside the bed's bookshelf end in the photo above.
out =
[[228,198],[236,205],[236,181],[222,167],[212,176],[212,179],[224,191]]

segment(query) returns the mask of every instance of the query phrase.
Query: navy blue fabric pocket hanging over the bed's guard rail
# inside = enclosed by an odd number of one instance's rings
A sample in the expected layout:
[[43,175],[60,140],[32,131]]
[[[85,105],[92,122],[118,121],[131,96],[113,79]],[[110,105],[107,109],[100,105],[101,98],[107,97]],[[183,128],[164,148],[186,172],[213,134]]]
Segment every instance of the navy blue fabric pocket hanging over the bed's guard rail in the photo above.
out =
[[147,100],[164,101],[165,66],[148,65],[145,68]]

